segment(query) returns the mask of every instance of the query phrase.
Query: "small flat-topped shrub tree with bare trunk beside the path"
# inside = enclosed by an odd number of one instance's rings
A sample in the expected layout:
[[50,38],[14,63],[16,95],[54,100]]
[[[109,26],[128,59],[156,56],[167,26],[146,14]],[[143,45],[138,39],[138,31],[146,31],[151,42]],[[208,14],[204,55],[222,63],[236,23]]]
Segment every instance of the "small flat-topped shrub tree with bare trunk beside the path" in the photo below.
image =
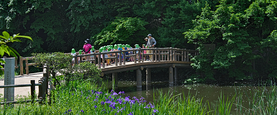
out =
[[[61,52],[54,53],[32,53],[33,62],[35,62],[36,67],[39,68],[48,68],[50,73],[52,74],[52,78],[55,79],[55,82],[60,86],[61,80],[57,79],[57,73],[62,69],[70,67],[70,62],[72,60],[72,55],[67,55]],[[54,84],[54,86],[56,86]]]

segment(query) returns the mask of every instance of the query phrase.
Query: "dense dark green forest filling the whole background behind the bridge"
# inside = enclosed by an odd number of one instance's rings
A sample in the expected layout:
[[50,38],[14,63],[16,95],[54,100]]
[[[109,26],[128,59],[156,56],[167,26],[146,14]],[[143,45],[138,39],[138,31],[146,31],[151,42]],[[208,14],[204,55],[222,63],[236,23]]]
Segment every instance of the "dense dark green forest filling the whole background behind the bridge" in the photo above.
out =
[[[70,52],[90,39],[199,50],[193,68],[206,78],[276,78],[276,0],[1,0],[0,31],[30,36],[12,43],[21,56]],[[207,45],[215,45],[208,49]]]

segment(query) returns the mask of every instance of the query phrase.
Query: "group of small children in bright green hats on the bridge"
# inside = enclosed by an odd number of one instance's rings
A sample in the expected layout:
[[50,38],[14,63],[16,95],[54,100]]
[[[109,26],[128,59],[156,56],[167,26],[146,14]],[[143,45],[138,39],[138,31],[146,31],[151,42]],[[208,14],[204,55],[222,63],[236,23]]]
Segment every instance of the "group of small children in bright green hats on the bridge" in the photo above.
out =
[[[95,49],[93,46],[91,46],[91,50],[90,50],[90,53],[94,53],[95,52]],[[145,48],[145,44],[142,45],[143,48]],[[140,48],[138,44],[135,45],[135,48]],[[119,50],[128,50],[128,49],[133,49],[130,45],[126,44],[126,45],[122,45],[122,44],[115,44],[115,45],[107,45],[107,46],[103,46],[103,47],[100,47],[99,49],[99,52],[108,52],[108,51],[119,51]],[[81,54],[84,54],[83,50],[79,50],[79,55]],[[124,52],[123,52],[124,53]],[[143,50],[143,53],[148,53],[146,50]],[[127,57],[127,55],[132,55],[134,54],[133,51],[129,51],[129,52],[125,52],[125,55],[126,55],[126,62],[133,62],[134,61],[134,57],[131,56],[131,57]],[[141,55],[141,52],[139,51],[136,51],[136,57],[137,57],[137,60],[139,59],[139,55]],[[75,52],[75,49],[72,49],[72,52],[71,52],[71,55],[76,55],[76,52]],[[96,55],[98,57],[98,55]],[[103,55],[101,55],[101,66],[102,66],[102,62],[103,62]],[[108,58],[108,57],[115,57],[115,53],[111,53],[111,54],[104,54],[105,58]],[[119,59],[119,54],[117,55],[117,58]],[[94,59],[94,56],[91,56],[90,59]],[[123,55],[121,55],[121,59],[123,61]],[[148,61],[149,60],[149,56],[148,55],[145,55],[143,57],[143,60]],[[85,60],[87,60],[87,58],[85,58]],[[142,59],[140,59],[142,60]],[[78,57],[78,61],[80,61],[80,58]],[[115,63],[115,60],[114,59],[108,59],[108,60],[105,60],[106,61],[106,66],[108,65],[111,65],[111,64],[114,64]],[[72,66],[74,64],[74,58],[72,59]]]

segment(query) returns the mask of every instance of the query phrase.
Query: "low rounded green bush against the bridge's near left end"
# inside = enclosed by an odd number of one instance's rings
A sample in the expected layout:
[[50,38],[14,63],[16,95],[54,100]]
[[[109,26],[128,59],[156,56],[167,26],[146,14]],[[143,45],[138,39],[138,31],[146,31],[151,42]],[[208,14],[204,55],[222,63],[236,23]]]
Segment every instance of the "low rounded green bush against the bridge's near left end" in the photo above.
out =
[[64,80],[68,82],[77,79],[100,81],[100,72],[101,70],[95,64],[83,62],[71,68],[65,68],[61,73],[64,75]]

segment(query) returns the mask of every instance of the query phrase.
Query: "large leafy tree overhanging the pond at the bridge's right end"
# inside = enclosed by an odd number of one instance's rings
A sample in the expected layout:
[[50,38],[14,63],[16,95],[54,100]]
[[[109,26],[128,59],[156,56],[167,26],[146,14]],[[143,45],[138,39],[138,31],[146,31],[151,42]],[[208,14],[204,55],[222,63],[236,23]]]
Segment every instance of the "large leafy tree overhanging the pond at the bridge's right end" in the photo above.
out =
[[[212,69],[227,70],[230,77],[237,79],[270,74],[277,67],[274,9],[276,1],[267,0],[221,0],[215,11],[206,4],[193,20],[194,29],[184,33],[200,52],[192,59],[192,66],[211,79]],[[206,50],[204,44],[216,44],[216,49]],[[267,66],[263,68],[267,72],[255,69],[260,64]]]

